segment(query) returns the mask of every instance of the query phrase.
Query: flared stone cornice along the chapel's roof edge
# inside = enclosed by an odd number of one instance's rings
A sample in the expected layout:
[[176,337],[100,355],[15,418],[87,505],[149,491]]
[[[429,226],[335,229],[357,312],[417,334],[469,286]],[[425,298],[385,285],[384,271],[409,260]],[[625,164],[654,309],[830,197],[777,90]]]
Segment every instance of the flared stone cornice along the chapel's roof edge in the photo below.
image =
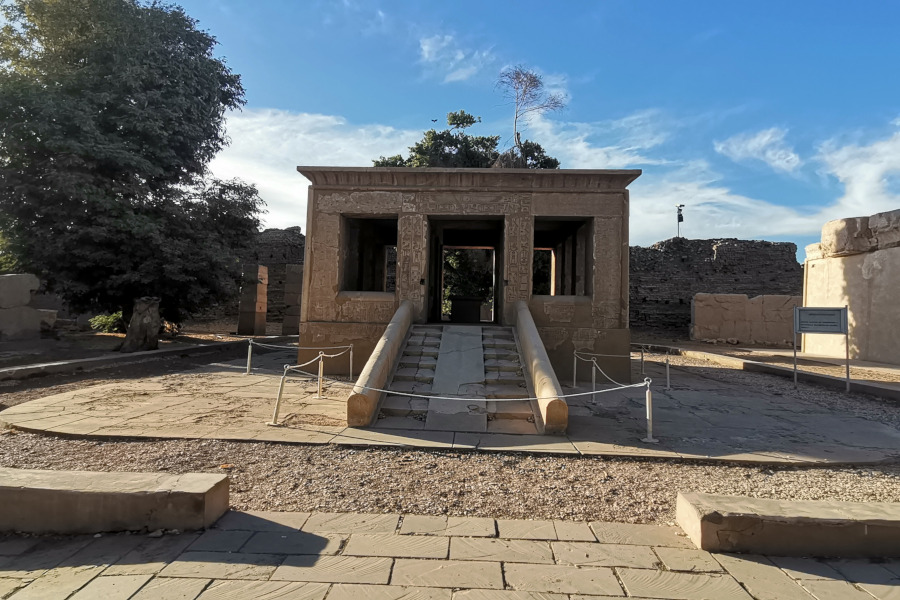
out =
[[316,188],[373,190],[624,190],[640,169],[437,169],[409,167],[297,167]]

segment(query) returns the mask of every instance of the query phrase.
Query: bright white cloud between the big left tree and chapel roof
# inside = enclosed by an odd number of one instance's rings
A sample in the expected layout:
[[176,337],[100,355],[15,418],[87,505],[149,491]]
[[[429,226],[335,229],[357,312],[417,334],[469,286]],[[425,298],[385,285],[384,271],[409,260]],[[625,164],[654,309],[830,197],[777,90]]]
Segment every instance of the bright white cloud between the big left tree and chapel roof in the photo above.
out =
[[273,109],[230,113],[227,129],[231,145],[210,165],[213,174],[255,184],[267,204],[267,227],[304,229],[309,181],[297,165],[369,167],[379,156],[406,152],[422,136],[421,131]]

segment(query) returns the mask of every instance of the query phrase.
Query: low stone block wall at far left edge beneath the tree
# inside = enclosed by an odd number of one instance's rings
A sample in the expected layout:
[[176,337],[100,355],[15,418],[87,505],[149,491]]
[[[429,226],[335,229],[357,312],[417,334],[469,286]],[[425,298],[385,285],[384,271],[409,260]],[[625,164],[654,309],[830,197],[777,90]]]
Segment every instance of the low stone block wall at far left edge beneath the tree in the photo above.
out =
[[28,273],[0,275],[0,341],[28,340],[52,329],[55,310],[31,306],[40,281]]

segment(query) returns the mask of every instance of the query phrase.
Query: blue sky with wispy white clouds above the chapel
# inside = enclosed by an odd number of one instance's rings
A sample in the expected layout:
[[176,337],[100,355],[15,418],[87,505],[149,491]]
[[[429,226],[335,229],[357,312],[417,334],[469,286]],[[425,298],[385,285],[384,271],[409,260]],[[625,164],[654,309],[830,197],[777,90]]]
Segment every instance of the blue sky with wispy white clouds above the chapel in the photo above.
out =
[[563,168],[639,168],[631,242],[818,241],[900,208],[900,3],[187,0],[243,77],[220,177],[305,228],[296,165],[370,166],[465,109],[511,138],[502,69],[568,96],[525,137]]

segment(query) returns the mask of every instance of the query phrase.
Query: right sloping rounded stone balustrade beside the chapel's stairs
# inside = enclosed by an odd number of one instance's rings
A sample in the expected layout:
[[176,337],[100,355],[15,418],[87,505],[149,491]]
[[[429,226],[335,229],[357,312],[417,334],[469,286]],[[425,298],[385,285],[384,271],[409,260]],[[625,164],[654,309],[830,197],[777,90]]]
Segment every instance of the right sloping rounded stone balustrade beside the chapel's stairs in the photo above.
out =
[[550,364],[531,311],[522,300],[516,302],[516,329],[522,347],[522,360],[528,368],[535,396],[539,398],[533,402],[537,404],[535,415],[540,417],[540,423],[536,423],[538,431],[548,434],[565,433],[569,426],[569,406],[560,398],[563,392],[556,379],[556,372]]

